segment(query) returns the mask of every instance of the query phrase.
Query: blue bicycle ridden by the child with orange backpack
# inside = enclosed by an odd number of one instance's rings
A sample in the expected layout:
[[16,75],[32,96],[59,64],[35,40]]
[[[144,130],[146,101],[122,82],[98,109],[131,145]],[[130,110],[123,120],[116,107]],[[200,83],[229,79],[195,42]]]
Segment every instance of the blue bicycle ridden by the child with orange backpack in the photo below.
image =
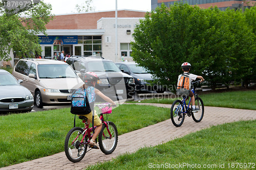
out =
[[176,100],[174,101],[172,108],[170,109],[170,118],[172,119],[172,122],[174,124],[174,126],[176,127],[180,127],[186,116],[192,116],[193,120],[195,122],[200,122],[203,119],[204,116],[204,104],[201,98],[199,98],[198,94],[196,94],[196,90],[194,87],[194,84],[198,84],[200,82],[199,81],[195,81],[195,82],[191,82],[191,85],[193,85],[193,88],[191,89],[191,91],[194,93],[195,95],[195,105],[196,107],[199,108],[199,110],[197,112],[192,112],[192,106],[190,106],[190,102],[191,102],[191,98],[188,102],[188,105],[186,106],[186,98],[188,98],[188,96],[183,96],[182,100]]

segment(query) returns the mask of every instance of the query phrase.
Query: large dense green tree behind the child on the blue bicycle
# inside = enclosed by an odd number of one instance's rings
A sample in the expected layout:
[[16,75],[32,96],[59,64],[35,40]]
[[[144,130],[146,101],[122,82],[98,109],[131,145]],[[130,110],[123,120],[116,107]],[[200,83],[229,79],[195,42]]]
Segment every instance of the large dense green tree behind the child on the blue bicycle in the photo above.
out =
[[133,59],[164,84],[176,85],[181,64],[189,62],[190,72],[203,74],[211,88],[218,83],[228,86],[243,77],[240,72],[253,59],[248,54],[254,54],[255,38],[244,16],[217,7],[162,4],[136,26]]

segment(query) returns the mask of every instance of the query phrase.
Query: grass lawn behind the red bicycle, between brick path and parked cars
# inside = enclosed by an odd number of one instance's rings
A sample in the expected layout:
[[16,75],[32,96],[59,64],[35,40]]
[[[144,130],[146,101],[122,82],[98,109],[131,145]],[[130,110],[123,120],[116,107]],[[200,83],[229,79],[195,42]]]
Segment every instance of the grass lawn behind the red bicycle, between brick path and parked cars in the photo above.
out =
[[[110,114],[119,135],[169,118],[169,109],[121,105]],[[82,127],[76,118],[77,126]],[[64,151],[64,141],[74,124],[70,109],[0,116],[0,167]]]

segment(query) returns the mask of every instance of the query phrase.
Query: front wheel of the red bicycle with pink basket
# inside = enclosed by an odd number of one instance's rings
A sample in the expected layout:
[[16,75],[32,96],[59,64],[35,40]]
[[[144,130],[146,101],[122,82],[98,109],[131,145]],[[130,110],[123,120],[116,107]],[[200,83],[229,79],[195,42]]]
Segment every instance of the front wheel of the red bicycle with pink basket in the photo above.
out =
[[118,132],[116,125],[113,122],[106,123],[108,124],[108,127],[103,123],[102,129],[99,133],[99,148],[104,154],[108,155],[116,149]]

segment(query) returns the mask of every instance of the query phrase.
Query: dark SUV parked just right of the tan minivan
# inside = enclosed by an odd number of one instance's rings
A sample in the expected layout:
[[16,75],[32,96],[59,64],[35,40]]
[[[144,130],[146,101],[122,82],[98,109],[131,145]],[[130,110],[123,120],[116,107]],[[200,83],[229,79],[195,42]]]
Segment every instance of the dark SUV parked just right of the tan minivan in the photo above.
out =
[[[134,79],[123,73],[111,60],[102,57],[72,56],[67,62],[74,70],[80,72],[95,72],[99,81],[95,88],[114,100],[132,98],[134,94]],[[117,99],[118,98],[118,99]]]

